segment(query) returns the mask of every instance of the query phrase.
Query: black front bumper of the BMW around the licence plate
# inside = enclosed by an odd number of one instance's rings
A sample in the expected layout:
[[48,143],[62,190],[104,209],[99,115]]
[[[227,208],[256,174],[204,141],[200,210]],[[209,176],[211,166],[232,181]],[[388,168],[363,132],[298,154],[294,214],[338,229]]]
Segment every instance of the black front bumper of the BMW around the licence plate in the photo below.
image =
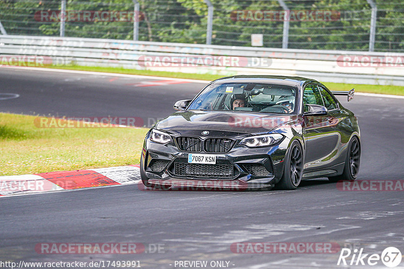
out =
[[[140,160],[140,175],[146,186],[154,187],[188,186],[207,190],[268,188],[273,187],[282,177],[287,146],[288,141],[285,139],[273,147],[247,148],[235,145],[225,154],[198,152],[216,155],[216,165],[189,166],[187,160],[190,152],[180,151],[175,143],[162,145],[146,137]],[[184,167],[181,170],[183,173],[178,173],[178,166]],[[200,171],[205,172],[198,173]]]

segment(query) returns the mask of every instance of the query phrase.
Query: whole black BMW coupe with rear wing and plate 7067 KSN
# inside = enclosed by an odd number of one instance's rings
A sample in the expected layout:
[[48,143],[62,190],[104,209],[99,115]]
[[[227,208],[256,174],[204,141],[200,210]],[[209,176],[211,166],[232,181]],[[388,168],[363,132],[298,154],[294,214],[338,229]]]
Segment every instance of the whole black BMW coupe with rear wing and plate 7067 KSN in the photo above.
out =
[[318,81],[234,76],[215,80],[146,134],[140,175],[147,187],[295,189],[301,180],[355,180],[360,130]]

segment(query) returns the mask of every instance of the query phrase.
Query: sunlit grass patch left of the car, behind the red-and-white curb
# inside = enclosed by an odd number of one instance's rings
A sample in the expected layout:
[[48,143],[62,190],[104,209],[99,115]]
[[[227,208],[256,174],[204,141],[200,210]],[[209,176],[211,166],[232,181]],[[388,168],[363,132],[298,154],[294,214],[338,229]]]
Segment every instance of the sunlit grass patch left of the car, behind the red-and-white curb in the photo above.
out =
[[0,113],[0,176],[138,164],[146,128],[38,128]]

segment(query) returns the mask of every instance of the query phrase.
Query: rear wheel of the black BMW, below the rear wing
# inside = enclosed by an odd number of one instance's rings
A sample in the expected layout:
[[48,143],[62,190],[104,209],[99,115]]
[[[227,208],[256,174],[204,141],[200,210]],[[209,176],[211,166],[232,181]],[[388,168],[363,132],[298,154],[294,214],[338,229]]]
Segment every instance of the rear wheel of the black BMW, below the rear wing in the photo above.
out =
[[330,176],[330,182],[337,182],[339,180],[354,181],[359,172],[361,163],[361,144],[357,137],[353,137],[349,142],[348,150],[346,152],[344,170],[339,176]]

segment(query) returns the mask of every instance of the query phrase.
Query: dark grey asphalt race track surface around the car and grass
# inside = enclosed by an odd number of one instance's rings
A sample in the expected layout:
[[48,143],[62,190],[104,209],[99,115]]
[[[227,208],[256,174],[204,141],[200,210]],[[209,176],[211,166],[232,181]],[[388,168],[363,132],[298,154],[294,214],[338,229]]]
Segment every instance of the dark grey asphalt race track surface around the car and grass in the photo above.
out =
[[[191,98],[203,87],[138,87],[155,80],[19,69],[0,69],[0,81],[1,93],[20,95],[0,101],[0,111],[57,116],[161,118],[173,112],[176,100]],[[339,99],[359,118],[358,179],[404,179],[404,100]],[[292,191],[142,191],[126,185],[6,197],[0,199],[0,260],[140,260],[143,268],[180,268],[176,260],[207,260],[208,265],[220,260],[229,261],[228,268],[341,268],[339,252],[242,254],[233,253],[230,245],[336,242],[370,254],[388,246],[404,253],[403,206],[403,191],[340,191],[326,179],[304,181]],[[41,242],[142,242],[146,247],[161,244],[164,250],[38,254],[34,247]],[[371,267],[387,268],[381,261]]]

